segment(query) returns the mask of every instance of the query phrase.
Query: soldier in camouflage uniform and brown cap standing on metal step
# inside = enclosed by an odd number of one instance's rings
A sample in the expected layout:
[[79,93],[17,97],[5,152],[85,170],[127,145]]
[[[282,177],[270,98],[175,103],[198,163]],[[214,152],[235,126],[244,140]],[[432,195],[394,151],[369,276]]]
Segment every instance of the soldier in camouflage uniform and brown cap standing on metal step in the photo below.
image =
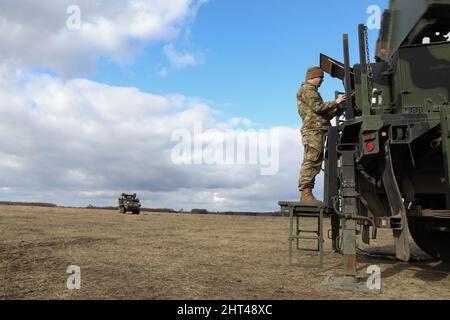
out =
[[304,146],[303,164],[300,170],[298,188],[301,193],[300,202],[318,205],[321,202],[314,198],[316,176],[323,162],[323,140],[331,125],[330,120],[339,113],[339,105],[347,101],[343,96],[336,101],[324,102],[318,89],[324,80],[324,72],[319,67],[309,68],[304,82],[297,93],[297,105],[303,120],[302,143]]

